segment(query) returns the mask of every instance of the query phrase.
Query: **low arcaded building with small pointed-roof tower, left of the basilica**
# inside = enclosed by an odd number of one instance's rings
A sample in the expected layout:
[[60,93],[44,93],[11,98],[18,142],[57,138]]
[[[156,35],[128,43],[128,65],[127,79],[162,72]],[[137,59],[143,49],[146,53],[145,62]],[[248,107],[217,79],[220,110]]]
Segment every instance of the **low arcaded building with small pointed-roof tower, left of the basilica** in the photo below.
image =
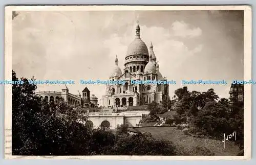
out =
[[73,107],[97,107],[98,99],[95,95],[92,95],[93,98],[90,98],[90,90],[86,87],[82,90],[82,97],[78,91],[77,95],[73,95],[69,92],[69,88],[65,85],[61,91],[38,91],[35,92],[41,99],[47,99],[48,102],[55,101],[57,102],[60,98],[63,98],[68,105]]

